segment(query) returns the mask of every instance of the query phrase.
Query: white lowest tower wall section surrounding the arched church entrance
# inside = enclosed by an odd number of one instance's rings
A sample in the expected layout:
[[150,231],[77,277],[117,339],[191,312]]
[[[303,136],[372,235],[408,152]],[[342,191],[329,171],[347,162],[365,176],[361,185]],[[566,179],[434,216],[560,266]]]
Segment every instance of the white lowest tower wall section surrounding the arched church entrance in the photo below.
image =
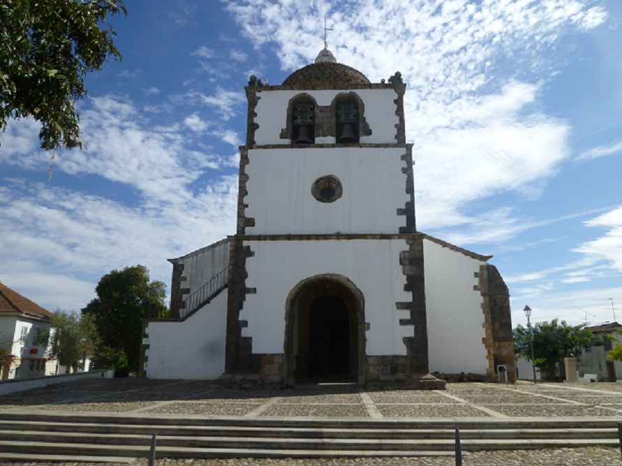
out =
[[244,241],[254,257],[246,259],[247,294],[240,320],[249,326],[243,336],[253,338],[253,352],[283,353],[286,299],[300,281],[320,273],[336,273],[349,278],[365,296],[366,353],[406,354],[404,336],[413,335],[413,326],[400,326],[407,310],[395,303],[411,301],[403,291],[406,277],[399,265],[399,253],[408,250],[403,239],[353,239],[329,241]]

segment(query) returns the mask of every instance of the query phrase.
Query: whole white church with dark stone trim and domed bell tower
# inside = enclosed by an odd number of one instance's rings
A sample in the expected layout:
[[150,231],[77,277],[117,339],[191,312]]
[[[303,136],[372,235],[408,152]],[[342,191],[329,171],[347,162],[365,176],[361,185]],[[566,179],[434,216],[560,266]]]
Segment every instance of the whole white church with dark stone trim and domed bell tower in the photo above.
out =
[[237,234],[170,260],[174,318],[145,326],[147,377],[513,380],[490,257],[415,227],[405,91],[327,49],[281,85],[251,76]]

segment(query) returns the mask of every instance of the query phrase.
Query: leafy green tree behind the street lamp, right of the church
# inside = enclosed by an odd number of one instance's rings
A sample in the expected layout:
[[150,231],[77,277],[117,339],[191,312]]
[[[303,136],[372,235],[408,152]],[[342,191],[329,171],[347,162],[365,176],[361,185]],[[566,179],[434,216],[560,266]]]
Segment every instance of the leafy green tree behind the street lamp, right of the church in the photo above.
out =
[[[578,357],[593,345],[593,333],[584,325],[571,326],[554,319],[538,322],[532,329],[533,363],[549,377],[553,377],[555,363],[561,363],[565,357]],[[531,361],[531,332],[521,325],[514,329],[514,352]]]

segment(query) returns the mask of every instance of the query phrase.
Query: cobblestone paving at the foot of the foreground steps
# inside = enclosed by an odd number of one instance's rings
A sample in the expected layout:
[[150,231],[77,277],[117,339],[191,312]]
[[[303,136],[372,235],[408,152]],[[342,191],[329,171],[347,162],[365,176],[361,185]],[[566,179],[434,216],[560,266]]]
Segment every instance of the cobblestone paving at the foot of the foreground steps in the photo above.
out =
[[[312,460],[254,460],[235,458],[225,460],[168,460],[157,459],[159,466],[454,466],[451,457],[440,458],[330,458]],[[465,454],[464,466],[616,466],[622,465],[619,449],[579,448],[529,451],[482,451]],[[7,466],[47,466],[47,463],[6,463]],[[76,463],[50,463],[50,466],[76,466]],[[80,466],[106,466],[80,463]],[[113,466],[113,465],[110,465]],[[139,459],[130,466],[147,466]]]

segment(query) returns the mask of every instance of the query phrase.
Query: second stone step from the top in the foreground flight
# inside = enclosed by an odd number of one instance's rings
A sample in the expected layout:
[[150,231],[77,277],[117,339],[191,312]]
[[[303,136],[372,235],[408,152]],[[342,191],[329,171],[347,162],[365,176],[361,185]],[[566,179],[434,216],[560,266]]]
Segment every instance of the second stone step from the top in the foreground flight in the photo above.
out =
[[[27,431],[28,434],[25,434]],[[12,438],[16,432],[21,435],[49,436],[58,433],[97,435],[151,435],[194,436],[194,437],[297,437],[324,439],[453,439],[453,429],[352,429],[352,428],[281,428],[241,426],[158,426],[61,423],[47,421],[0,421],[0,439]],[[462,439],[572,439],[572,438],[617,438],[616,428],[532,428],[532,429],[461,429]]]

